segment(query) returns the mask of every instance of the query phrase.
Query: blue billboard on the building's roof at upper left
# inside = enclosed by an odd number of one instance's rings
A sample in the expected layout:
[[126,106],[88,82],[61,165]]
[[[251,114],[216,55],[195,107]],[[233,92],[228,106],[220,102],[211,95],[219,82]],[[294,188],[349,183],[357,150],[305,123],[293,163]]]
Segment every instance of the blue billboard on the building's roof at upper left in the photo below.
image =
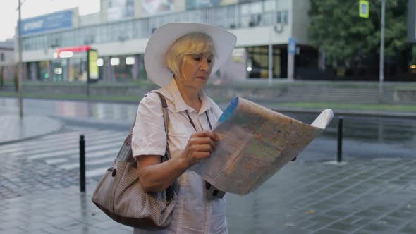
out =
[[22,20],[22,35],[73,27],[73,11],[59,11]]

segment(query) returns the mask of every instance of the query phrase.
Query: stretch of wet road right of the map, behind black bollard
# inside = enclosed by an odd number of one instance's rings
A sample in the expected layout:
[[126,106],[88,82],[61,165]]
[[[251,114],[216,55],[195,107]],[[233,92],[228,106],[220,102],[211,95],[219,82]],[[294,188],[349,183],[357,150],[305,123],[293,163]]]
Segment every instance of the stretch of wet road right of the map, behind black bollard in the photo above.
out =
[[[304,123],[312,123],[312,114],[290,114]],[[338,116],[300,155],[305,160],[335,160],[337,157]],[[411,158],[416,152],[416,120],[343,116],[343,159]]]

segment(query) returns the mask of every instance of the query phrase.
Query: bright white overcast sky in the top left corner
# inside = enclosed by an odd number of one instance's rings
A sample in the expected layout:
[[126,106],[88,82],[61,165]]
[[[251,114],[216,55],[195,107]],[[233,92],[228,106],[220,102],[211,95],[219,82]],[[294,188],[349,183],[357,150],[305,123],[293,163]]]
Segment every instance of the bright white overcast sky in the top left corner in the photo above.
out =
[[[0,0],[0,42],[11,39],[18,22],[18,0]],[[80,15],[99,11],[99,0],[20,0],[22,19],[68,8],[79,8]]]

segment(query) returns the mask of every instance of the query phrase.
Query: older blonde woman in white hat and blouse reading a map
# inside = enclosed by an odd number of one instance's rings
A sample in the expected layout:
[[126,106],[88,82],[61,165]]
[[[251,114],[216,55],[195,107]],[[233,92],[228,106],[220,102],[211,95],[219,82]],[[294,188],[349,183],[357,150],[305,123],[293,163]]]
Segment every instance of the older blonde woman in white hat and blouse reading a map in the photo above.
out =
[[[145,68],[166,98],[169,136],[166,139],[161,100],[149,93],[139,104],[132,150],[146,192],[160,192],[176,182],[178,201],[171,224],[159,233],[228,233],[225,197],[207,197],[207,183],[188,169],[207,159],[219,140],[211,130],[221,109],[203,88],[231,55],[235,41],[235,35],[212,25],[169,23],[147,44]],[[166,144],[171,159],[161,163]],[[153,232],[135,228],[134,233]]]

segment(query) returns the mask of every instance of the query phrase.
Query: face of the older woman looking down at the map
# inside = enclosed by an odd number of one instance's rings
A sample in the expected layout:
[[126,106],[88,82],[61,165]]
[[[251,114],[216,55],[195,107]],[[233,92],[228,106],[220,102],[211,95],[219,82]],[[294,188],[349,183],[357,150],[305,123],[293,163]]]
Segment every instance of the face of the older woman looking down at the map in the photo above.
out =
[[214,66],[214,56],[211,52],[185,56],[179,72],[178,82],[188,88],[202,90],[207,84]]

